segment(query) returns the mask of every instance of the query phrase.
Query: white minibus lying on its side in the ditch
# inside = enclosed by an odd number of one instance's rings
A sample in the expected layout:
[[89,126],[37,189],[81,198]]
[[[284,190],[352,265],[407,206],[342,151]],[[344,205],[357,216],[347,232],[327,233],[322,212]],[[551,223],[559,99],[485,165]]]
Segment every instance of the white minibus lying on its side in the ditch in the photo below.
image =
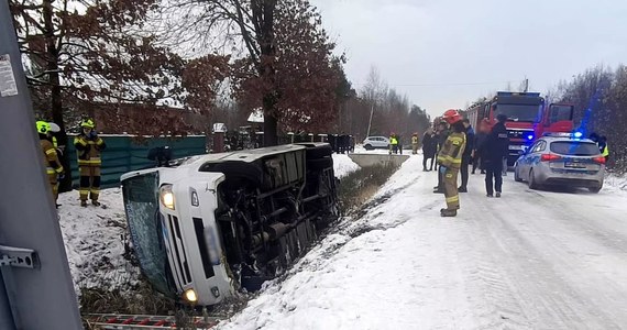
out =
[[339,216],[332,150],[207,154],[121,177],[134,255],[153,288],[210,306],[261,288]]

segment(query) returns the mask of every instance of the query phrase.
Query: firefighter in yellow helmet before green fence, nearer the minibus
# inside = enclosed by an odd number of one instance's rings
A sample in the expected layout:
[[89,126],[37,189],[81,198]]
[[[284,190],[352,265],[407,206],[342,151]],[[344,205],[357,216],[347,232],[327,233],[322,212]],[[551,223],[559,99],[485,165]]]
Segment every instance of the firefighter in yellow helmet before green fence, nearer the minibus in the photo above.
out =
[[107,147],[105,141],[96,132],[96,123],[92,119],[86,119],[80,123],[80,134],[74,139],[74,146],[78,154],[78,168],[80,172],[79,195],[80,206],[87,207],[87,198],[91,204],[100,206],[100,153]]

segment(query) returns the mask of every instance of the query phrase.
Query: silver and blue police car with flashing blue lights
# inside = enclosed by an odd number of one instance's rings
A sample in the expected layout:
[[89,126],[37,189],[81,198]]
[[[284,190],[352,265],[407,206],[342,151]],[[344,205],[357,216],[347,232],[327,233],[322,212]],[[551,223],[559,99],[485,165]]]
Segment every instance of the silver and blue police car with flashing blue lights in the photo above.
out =
[[514,165],[517,182],[529,188],[542,186],[583,187],[592,193],[603,188],[605,157],[592,140],[581,133],[551,133],[522,151]]

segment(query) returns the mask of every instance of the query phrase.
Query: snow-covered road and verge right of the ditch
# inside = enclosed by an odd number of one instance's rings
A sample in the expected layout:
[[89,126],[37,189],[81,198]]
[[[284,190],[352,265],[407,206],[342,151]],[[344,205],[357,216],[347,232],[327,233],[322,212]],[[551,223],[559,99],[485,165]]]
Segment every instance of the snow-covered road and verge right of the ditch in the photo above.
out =
[[627,328],[627,194],[607,187],[488,199],[471,176],[440,218],[436,173],[411,157],[223,329]]

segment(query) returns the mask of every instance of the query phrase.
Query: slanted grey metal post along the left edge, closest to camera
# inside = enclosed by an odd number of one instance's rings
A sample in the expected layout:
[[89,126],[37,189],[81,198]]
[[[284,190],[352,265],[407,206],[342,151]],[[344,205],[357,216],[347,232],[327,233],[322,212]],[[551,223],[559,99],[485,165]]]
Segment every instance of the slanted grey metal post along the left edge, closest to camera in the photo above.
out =
[[0,0],[0,329],[82,329],[8,0]]

